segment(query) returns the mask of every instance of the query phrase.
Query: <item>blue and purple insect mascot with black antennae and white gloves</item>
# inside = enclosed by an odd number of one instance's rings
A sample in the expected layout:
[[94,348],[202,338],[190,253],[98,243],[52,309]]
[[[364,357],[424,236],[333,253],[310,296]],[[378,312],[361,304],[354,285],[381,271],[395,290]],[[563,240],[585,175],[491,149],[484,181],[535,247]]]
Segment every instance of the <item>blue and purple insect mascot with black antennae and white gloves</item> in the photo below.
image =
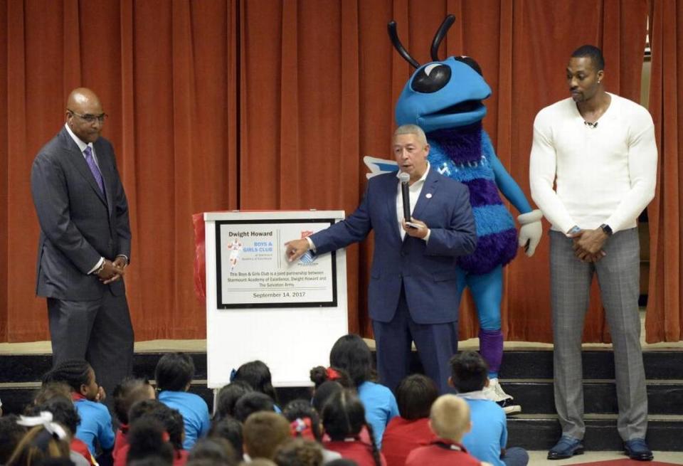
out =
[[[480,353],[489,365],[487,398],[497,401],[507,413],[521,411],[498,383],[503,356],[500,302],[502,268],[523,247],[534,254],[541,240],[541,211],[532,210],[517,182],[500,163],[489,135],[482,129],[491,95],[480,66],[469,57],[439,60],[438,48],[455,16],[449,15],[438,29],[431,47],[432,62],[420,65],[401,45],[396,23],[388,24],[391,42],[411,63],[415,73],[396,102],[396,124],[418,125],[430,144],[431,169],[450,176],[470,189],[470,203],[477,226],[477,249],[458,261],[460,296],[470,288],[480,324]],[[502,193],[520,215],[519,235]],[[457,309],[455,310],[457,312]]]

